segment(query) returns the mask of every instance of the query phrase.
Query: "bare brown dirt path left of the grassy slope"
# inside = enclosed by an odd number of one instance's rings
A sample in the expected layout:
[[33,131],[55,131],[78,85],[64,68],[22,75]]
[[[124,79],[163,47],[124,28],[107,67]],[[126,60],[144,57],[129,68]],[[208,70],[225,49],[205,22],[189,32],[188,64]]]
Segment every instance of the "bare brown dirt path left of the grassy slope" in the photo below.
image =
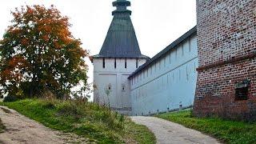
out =
[[75,134],[63,134],[50,130],[5,106],[0,106],[0,118],[6,126],[5,132],[0,134],[0,143],[3,144],[86,143],[88,141]]

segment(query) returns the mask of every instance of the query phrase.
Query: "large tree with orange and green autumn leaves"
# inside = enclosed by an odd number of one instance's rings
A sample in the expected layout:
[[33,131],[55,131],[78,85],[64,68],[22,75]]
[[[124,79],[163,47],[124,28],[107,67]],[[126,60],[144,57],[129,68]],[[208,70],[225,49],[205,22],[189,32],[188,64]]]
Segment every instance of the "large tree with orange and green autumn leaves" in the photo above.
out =
[[86,86],[88,53],[70,33],[69,18],[54,6],[22,6],[12,14],[0,41],[2,94],[31,98],[50,90],[62,97],[81,82]]

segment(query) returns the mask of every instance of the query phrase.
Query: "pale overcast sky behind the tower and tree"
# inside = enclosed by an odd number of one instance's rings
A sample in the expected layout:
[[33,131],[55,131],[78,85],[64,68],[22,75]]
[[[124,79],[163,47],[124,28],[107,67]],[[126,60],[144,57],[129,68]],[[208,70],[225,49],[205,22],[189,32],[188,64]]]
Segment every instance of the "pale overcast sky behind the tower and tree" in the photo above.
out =
[[[70,30],[90,54],[98,54],[112,20],[114,0],[5,0],[0,2],[0,38],[10,25],[10,10],[25,5],[54,4],[70,18]],[[196,25],[196,0],[130,0],[132,21],[142,54],[152,58]],[[89,61],[88,61],[89,62]],[[90,82],[93,66],[90,64]]]

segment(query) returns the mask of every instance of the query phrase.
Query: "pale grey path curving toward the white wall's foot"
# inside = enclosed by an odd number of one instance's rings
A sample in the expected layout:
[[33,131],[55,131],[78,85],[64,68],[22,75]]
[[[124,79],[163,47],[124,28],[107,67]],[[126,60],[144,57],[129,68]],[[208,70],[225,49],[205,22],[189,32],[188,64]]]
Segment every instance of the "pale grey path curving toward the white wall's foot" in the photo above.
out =
[[202,134],[201,132],[188,129],[174,122],[169,122],[160,118],[131,117],[131,119],[138,124],[147,126],[155,134],[157,143],[160,144],[219,143],[214,138]]

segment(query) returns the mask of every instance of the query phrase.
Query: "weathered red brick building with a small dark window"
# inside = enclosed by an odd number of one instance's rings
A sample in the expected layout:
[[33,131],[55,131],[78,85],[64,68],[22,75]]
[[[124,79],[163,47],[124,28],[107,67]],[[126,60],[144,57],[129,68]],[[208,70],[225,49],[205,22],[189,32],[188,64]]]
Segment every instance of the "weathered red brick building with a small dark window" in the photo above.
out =
[[256,1],[197,0],[194,114],[256,120]]

